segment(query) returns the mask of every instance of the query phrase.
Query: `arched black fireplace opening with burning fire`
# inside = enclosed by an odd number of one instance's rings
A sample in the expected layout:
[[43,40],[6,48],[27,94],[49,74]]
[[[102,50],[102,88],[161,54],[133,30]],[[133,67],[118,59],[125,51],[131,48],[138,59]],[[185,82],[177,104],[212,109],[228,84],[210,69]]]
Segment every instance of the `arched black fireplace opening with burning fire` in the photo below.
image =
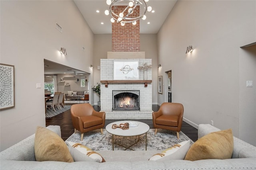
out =
[[140,90],[113,90],[112,110],[140,110]]

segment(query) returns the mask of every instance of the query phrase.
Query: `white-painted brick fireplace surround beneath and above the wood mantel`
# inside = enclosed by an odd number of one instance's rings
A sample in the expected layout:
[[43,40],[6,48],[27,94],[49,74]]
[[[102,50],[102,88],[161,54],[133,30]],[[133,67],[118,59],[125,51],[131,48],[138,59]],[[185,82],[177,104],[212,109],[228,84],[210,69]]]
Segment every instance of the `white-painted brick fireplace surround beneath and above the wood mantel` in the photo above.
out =
[[[152,81],[121,81],[114,80],[114,61],[117,59],[100,60],[100,101],[101,111],[106,112],[106,119],[152,119]],[[118,59],[120,61],[120,59]],[[143,63],[151,64],[151,59],[122,59],[129,61],[139,61],[139,66]],[[140,80],[143,80],[143,71],[139,70]],[[105,86],[107,80],[107,87]],[[152,80],[152,70],[148,70],[148,80]],[[112,111],[112,91],[113,90],[140,90],[140,110],[113,110]]]

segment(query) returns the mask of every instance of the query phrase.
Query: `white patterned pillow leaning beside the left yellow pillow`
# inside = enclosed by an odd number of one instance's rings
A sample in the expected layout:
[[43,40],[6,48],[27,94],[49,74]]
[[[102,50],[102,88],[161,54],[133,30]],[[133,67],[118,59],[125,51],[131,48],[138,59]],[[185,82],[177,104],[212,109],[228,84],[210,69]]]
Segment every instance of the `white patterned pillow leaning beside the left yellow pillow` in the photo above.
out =
[[70,154],[75,162],[90,161],[90,162],[106,162],[104,158],[90,148],[75,142],[66,141]]

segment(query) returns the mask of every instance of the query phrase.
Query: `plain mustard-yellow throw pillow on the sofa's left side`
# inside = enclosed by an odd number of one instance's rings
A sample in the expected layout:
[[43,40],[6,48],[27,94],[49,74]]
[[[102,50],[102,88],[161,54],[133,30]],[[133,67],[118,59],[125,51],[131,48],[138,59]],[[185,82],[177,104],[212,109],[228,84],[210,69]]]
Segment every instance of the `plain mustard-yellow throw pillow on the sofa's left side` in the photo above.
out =
[[36,129],[34,149],[36,161],[74,162],[61,137],[44,127]]

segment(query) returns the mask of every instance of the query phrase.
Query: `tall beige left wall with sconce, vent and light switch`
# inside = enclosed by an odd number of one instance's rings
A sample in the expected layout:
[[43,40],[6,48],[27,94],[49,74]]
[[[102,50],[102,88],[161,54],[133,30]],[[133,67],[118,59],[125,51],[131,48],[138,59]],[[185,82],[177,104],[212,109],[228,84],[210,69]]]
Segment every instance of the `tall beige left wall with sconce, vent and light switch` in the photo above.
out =
[[[0,5],[1,63],[15,66],[15,107],[0,113],[4,150],[37,126],[45,127],[44,59],[92,73],[93,33],[73,1],[1,0]],[[60,55],[60,47],[67,56]],[[36,89],[36,83],[42,88]]]

